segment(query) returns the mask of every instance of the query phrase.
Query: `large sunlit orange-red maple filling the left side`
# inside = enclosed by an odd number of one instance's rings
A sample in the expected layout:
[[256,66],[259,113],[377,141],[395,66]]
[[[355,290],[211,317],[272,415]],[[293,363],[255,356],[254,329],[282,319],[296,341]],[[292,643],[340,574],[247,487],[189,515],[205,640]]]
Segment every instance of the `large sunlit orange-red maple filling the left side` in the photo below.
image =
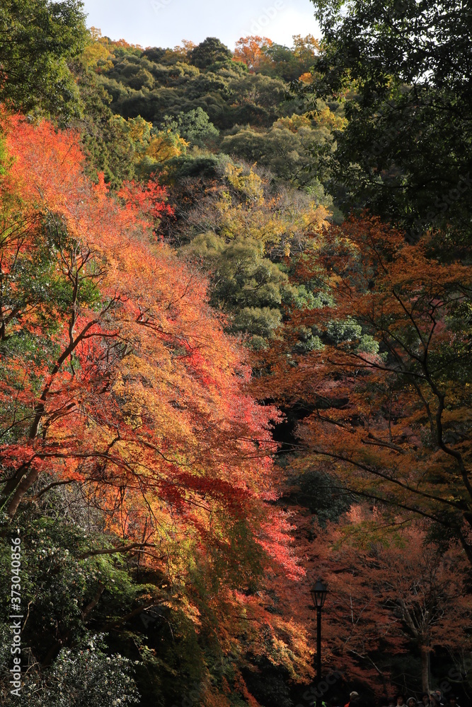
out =
[[79,493],[192,621],[214,613],[224,650],[265,626],[272,647],[260,650],[306,670],[304,630],[253,595],[302,575],[267,503],[277,411],[245,392],[246,354],[205,279],[161,243],[165,190],[132,182],[112,196],[84,176],[76,134],[4,123],[4,510],[13,518],[52,486]]

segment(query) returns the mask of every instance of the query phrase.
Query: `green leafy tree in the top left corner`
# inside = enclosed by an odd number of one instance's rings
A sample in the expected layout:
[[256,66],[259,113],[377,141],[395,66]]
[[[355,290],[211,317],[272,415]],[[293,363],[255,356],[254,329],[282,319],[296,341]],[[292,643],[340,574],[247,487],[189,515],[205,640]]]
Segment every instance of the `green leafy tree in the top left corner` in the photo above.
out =
[[67,61],[88,33],[79,0],[4,0],[0,6],[0,100],[16,110],[45,110],[62,120],[79,112]]

